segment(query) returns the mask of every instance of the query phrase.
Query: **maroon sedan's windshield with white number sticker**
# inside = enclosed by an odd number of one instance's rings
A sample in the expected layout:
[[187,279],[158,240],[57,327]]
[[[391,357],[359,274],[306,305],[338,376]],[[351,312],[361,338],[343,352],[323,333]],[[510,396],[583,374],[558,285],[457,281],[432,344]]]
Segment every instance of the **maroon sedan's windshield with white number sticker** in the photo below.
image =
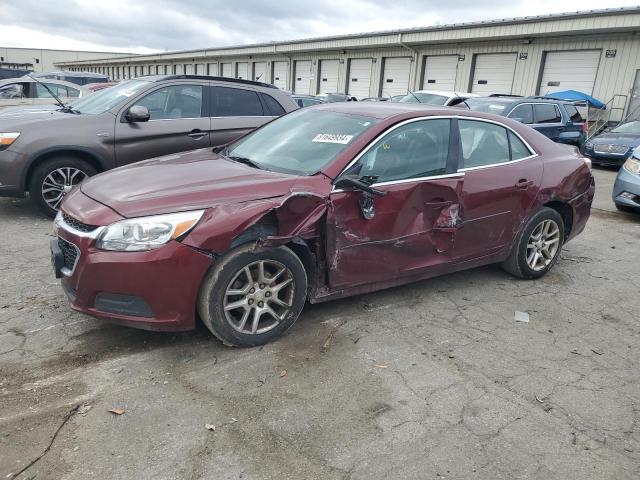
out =
[[360,115],[297,110],[242,138],[225,155],[266,170],[312,175],[377,122]]

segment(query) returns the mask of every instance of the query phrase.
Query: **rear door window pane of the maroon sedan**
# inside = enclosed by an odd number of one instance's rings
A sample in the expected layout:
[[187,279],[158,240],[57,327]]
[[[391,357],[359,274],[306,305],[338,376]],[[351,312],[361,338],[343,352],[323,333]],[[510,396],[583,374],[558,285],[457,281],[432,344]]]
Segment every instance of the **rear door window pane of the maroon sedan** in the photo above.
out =
[[460,143],[464,168],[508,162],[507,129],[488,122],[460,120]]

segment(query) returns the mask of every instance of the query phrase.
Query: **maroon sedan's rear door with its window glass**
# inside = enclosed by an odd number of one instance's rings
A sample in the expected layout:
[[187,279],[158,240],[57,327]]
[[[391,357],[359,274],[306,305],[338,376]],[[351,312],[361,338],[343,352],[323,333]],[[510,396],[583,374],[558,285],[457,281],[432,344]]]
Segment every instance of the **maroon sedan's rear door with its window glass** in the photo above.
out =
[[512,130],[490,121],[459,120],[462,223],[457,262],[510,246],[528,217],[542,179],[542,160]]

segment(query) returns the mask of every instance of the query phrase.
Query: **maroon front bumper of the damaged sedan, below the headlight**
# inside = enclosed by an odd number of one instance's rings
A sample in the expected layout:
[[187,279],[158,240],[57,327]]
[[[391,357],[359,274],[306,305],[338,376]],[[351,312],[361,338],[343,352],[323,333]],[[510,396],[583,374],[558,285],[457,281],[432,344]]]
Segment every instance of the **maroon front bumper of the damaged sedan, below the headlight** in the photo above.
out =
[[57,233],[78,250],[74,268],[62,276],[72,309],[145,330],[195,327],[209,255],[176,241],[146,252],[109,252],[95,248],[93,238],[62,228]]

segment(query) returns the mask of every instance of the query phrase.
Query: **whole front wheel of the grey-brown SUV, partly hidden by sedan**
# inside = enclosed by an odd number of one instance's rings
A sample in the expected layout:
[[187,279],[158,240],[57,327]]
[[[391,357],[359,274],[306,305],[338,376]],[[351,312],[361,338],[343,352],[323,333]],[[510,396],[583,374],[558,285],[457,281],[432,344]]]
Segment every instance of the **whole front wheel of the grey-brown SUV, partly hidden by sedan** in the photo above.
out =
[[29,184],[29,195],[38,208],[53,218],[69,191],[96,169],[79,158],[56,157],[39,165]]

